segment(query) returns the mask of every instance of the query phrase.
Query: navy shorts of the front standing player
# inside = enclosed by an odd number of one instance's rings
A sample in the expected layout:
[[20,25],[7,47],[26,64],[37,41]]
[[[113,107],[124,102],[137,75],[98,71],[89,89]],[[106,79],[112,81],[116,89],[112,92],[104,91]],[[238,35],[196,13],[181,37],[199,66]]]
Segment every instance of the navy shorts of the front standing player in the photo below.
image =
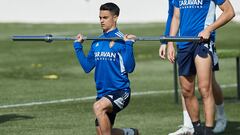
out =
[[192,43],[186,48],[178,48],[177,51],[177,63],[179,76],[191,76],[196,75],[196,67],[194,59],[198,55],[202,58],[206,58],[208,54],[212,58],[213,71],[219,70],[218,58],[216,55],[214,42],[210,43]]

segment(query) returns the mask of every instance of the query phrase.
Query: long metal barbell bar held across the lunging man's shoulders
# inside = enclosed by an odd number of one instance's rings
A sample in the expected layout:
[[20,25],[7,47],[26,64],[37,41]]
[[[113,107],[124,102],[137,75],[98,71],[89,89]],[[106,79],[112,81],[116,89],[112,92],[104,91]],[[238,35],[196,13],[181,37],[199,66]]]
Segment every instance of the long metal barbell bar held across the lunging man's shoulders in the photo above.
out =
[[[101,38],[93,36],[85,36],[84,40],[123,40],[120,37],[113,38]],[[13,41],[45,41],[51,43],[52,41],[74,41],[75,37],[63,37],[63,36],[53,36],[47,34],[45,36],[12,36]],[[207,40],[202,39],[201,37],[192,37],[192,36],[155,36],[155,37],[136,37],[136,41],[165,41],[165,42],[207,42]]]

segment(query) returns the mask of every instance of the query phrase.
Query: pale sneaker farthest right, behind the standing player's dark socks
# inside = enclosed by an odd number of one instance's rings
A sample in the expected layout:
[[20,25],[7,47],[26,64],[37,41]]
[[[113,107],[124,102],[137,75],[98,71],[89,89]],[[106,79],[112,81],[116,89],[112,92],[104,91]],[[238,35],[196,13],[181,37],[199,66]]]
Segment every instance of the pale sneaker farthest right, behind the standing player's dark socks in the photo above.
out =
[[226,127],[227,127],[227,118],[226,117],[217,119],[216,125],[213,129],[213,132],[214,133],[222,133],[225,131]]

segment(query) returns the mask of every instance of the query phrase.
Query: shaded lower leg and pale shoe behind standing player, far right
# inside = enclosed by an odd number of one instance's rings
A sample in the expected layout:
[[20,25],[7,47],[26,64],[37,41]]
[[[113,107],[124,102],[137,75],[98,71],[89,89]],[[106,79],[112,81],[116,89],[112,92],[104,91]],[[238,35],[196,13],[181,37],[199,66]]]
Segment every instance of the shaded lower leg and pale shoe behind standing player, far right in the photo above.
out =
[[213,129],[214,133],[221,133],[224,132],[227,126],[227,118],[224,112],[224,102],[223,102],[223,94],[221,87],[216,81],[215,74],[213,72],[212,76],[212,89],[213,89],[213,96],[216,103],[216,124]]

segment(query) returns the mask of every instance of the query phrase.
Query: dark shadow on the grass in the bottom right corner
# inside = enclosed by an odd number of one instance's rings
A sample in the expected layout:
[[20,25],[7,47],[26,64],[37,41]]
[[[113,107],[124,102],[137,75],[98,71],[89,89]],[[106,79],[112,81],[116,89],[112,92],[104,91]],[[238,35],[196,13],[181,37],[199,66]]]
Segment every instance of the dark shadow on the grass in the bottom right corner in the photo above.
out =
[[218,135],[239,135],[239,133],[240,133],[240,122],[228,121],[225,132]]

